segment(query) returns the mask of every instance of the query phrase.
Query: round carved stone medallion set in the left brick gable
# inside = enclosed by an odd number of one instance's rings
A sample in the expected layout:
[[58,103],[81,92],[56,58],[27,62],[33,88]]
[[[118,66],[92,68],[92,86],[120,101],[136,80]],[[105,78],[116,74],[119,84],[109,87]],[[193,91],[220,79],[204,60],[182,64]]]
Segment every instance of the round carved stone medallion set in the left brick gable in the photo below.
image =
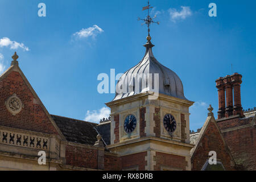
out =
[[13,115],[19,114],[19,112],[24,107],[22,101],[18,96],[16,96],[16,94],[13,94],[13,96],[9,97],[5,102],[5,105],[7,110]]

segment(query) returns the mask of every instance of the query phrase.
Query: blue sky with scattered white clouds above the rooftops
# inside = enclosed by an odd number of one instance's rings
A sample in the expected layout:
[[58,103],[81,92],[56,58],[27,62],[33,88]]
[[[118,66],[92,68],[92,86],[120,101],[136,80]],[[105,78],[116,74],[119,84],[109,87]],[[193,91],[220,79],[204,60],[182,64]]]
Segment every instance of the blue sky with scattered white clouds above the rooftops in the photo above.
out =
[[[38,4],[46,4],[46,17]],[[208,5],[217,5],[209,17]],[[114,94],[97,92],[97,76],[125,72],[144,56],[147,1],[0,1],[0,72],[14,51],[28,81],[51,114],[93,121],[108,114]],[[151,0],[160,25],[151,27],[156,59],[181,78],[191,107],[191,130],[207,107],[218,109],[215,80],[240,73],[242,106],[255,106],[256,2]],[[90,28],[91,27],[91,28]],[[89,29],[88,29],[89,28]],[[96,119],[98,120],[98,118]]]

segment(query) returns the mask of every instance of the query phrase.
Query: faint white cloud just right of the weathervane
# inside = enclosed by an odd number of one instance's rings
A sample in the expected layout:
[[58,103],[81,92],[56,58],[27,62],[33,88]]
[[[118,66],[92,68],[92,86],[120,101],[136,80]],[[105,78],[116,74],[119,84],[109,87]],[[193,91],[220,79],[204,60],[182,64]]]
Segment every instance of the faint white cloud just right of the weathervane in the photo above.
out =
[[192,15],[192,11],[189,6],[181,6],[181,9],[182,10],[180,11],[174,8],[168,10],[173,22],[176,22],[178,19],[186,19],[188,16]]

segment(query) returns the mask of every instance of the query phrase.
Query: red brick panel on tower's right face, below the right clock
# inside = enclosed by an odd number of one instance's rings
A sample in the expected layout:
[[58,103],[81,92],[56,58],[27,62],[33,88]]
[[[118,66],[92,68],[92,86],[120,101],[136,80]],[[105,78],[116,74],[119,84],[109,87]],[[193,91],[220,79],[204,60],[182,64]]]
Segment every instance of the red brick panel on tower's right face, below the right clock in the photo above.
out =
[[164,154],[162,152],[155,152],[155,162],[154,170],[160,171],[161,166],[176,169],[176,170],[184,170],[188,163],[185,160],[184,156],[172,155],[172,154]]

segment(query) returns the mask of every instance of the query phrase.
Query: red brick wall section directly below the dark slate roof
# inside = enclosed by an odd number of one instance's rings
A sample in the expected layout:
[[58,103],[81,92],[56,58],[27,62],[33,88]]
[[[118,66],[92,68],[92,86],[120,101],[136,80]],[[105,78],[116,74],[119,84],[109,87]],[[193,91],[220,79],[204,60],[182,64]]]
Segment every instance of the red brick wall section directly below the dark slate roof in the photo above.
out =
[[76,167],[97,169],[97,150],[80,146],[66,146],[67,164]]

